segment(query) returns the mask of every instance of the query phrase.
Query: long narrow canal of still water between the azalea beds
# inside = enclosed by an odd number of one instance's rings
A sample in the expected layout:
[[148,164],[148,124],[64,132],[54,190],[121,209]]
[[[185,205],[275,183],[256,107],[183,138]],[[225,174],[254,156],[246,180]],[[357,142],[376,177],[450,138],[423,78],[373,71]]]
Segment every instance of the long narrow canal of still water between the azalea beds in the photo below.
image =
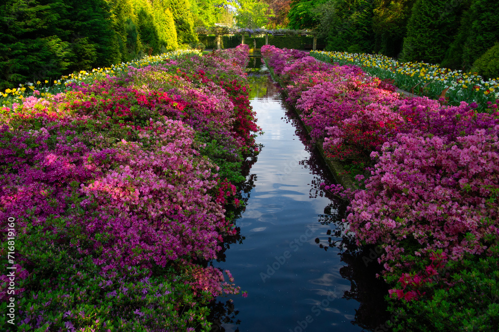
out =
[[[213,263],[230,270],[248,298],[219,297],[230,312],[214,331],[374,330],[385,321],[386,289],[362,260],[367,249],[342,237],[345,205],[320,190],[321,182],[334,180],[299,121],[260,59],[251,64],[260,68],[249,76],[263,148],[250,169],[246,211],[236,221],[242,240],[225,251],[225,261]],[[350,250],[329,246],[340,242]]]

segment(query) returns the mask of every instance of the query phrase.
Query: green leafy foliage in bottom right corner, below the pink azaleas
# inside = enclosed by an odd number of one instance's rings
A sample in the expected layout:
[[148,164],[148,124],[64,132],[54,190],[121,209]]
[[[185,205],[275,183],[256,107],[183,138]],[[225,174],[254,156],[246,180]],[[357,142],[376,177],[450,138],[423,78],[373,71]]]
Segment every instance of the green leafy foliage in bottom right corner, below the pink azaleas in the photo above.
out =
[[391,300],[397,320],[394,332],[402,331],[499,331],[499,260],[497,257],[450,263],[454,286],[429,284],[429,300]]

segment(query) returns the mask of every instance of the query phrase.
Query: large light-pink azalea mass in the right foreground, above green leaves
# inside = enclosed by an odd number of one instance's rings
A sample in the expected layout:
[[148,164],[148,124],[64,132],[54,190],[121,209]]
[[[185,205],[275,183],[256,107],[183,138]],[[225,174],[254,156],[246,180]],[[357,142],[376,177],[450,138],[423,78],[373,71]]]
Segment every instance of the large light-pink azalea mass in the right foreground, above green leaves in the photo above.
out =
[[498,133],[499,125],[450,143],[399,134],[381,153],[373,152],[378,163],[347,217],[359,243],[382,243],[381,260],[392,263],[385,264],[389,271],[400,264],[404,239],[415,241],[416,256],[438,249],[452,260],[487,254],[487,235],[496,234],[499,212],[493,204],[499,190]]

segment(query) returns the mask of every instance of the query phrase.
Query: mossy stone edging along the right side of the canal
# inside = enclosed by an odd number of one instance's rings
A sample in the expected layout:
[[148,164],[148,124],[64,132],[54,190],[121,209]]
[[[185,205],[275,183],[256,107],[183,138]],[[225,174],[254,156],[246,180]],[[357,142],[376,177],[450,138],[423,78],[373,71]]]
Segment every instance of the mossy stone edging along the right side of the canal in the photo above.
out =
[[[279,83],[280,87],[282,88],[282,92],[286,95],[286,97],[289,97],[287,94],[286,88],[285,88],[284,84],[282,83],[282,81],[275,77],[273,69],[268,65],[265,58],[262,57],[262,59],[263,59],[263,61],[265,61],[265,65],[267,66],[268,71],[270,72],[270,76],[272,77],[274,82]],[[287,105],[290,108],[292,108],[296,114],[301,115],[302,112],[300,110],[298,110],[296,107],[294,107],[294,105],[289,104],[289,103]],[[305,123],[303,122],[301,117],[299,117],[299,119],[300,119],[300,122],[301,122],[303,128],[305,128],[305,130],[307,131],[307,134],[310,135],[310,127],[305,125]],[[320,155],[322,157],[322,160],[329,168],[329,171],[331,172],[331,174],[333,174],[336,182],[338,182],[340,185],[342,185],[343,188],[345,188],[345,189],[351,189],[351,190],[358,189],[358,186],[352,181],[350,176],[347,175],[347,173],[346,173],[345,169],[343,168],[343,166],[341,165],[341,163],[337,159],[328,158],[326,156],[326,154],[324,152],[324,148],[322,147],[322,142],[316,142],[314,145],[319,150]]]

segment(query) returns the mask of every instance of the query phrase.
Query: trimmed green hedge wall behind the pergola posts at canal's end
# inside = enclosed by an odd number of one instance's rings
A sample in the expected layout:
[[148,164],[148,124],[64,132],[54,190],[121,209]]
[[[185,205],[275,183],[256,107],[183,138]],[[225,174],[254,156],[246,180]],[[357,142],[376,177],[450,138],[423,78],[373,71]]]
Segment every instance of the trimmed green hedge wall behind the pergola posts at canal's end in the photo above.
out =
[[[253,47],[253,40],[256,40],[256,48],[260,48],[265,45],[265,37],[249,37],[245,36],[245,44]],[[205,44],[206,48],[216,48],[215,36],[199,36],[199,41]],[[241,44],[241,35],[234,36],[223,36],[222,37],[222,48],[233,48]],[[279,48],[294,48],[294,49],[304,49],[305,45],[313,44],[312,36],[268,36],[268,44],[274,45]],[[324,38],[317,38],[317,48],[320,49],[321,45],[325,45],[326,41]]]

